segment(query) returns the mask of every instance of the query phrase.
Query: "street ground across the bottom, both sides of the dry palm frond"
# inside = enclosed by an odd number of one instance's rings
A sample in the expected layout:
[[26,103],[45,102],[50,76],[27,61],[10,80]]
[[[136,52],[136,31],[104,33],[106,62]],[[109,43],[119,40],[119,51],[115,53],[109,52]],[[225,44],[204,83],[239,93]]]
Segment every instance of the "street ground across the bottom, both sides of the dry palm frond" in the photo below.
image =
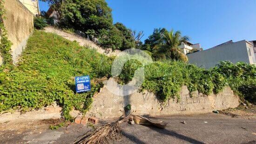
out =
[[[256,120],[232,118],[210,113],[193,116],[169,116],[159,119],[168,122],[166,129],[123,123],[123,138],[115,144],[256,144]],[[115,120],[109,119],[109,122]],[[186,121],[187,124],[181,122]],[[11,122],[0,124],[0,144],[69,144],[92,130],[92,125],[70,124],[58,130],[47,129],[48,124]]]

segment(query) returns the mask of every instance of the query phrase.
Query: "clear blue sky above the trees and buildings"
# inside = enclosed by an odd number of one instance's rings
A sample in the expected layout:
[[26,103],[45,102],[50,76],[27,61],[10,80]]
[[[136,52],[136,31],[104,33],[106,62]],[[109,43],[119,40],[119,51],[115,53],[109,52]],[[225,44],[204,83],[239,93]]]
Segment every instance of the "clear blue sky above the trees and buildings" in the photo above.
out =
[[[256,0],[106,0],[114,23],[144,31],[165,27],[188,35],[204,49],[233,39],[256,40]],[[40,10],[47,11],[40,1]]]

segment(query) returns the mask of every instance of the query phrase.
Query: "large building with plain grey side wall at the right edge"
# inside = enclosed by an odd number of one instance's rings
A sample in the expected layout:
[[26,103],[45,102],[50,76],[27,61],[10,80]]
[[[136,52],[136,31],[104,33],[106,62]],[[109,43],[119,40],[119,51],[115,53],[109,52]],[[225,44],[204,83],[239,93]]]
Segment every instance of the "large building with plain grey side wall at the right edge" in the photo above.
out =
[[246,40],[230,40],[204,51],[188,53],[187,56],[189,63],[205,68],[214,67],[220,61],[256,64],[253,44]]

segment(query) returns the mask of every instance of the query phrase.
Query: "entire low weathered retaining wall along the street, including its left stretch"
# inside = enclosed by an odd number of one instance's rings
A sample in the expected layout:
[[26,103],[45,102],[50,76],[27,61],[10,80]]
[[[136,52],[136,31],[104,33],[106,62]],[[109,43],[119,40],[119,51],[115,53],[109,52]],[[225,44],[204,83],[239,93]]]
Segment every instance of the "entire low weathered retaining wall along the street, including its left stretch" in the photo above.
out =
[[[182,114],[202,114],[209,113],[213,110],[223,110],[227,108],[235,108],[240,102],[238,96],[233,94],[233,91],[226,87],[220,94],[204,96],[198,92],[192,93],[190,98],[189,90],[186,86],[182,87],[180,93],[181,99],[170,99],[165,105],[161,105],[154,94],[134,93],[131,96],[117,96],[109,92],[105,87],[101,92],[94,96],[94,102],[87,113],[89,116],[97,118],[118,118],[125,114],[124,107],[128,104],[132,105],[133,114],[147,116],[169,116]],[[47,118],[61,118],[61,107],[58,105],[50,105],[38,111],[29,111],[24,114],[15,111],[0,114],[0,123],[7,121],[25,121]],[[73,117],[81,115],[79,111],[71,111]]]

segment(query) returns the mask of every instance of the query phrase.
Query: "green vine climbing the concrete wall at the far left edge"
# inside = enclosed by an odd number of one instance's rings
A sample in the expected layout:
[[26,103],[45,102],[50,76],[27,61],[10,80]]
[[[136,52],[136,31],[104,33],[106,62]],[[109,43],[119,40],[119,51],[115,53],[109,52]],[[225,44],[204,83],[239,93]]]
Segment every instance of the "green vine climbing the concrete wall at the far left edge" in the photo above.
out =
[[0,0],[0,53],[3,58],[4,64],[12,64],[11,46],[13,43],[7,38],[7,30],[5,29],[3,20],[6,11],[4,9],[4,0]]

